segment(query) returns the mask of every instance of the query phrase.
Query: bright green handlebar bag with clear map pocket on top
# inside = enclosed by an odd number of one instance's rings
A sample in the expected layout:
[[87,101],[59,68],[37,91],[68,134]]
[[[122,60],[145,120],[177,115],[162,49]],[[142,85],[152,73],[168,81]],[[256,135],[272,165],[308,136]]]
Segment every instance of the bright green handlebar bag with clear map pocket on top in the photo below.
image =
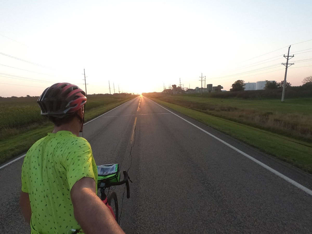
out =
[[106,182],[119,182],[120,172],[118,164],[107,164],[97,166],[98,180],[105,180]]

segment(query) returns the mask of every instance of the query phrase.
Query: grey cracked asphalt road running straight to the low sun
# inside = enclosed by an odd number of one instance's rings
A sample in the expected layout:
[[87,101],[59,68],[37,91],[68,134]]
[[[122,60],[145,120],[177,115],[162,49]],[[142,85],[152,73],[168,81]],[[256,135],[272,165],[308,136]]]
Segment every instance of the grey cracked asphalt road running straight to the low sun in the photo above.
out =
[[[130,199],[114,188],[126,233],[312,232],[310,194],[201,129],[311,190],[310,175],[166,109],[141,96],[84,126],[97,164],[129,170]],[[0,170],[0,233],[29,233],[18,208],[21,166]]]

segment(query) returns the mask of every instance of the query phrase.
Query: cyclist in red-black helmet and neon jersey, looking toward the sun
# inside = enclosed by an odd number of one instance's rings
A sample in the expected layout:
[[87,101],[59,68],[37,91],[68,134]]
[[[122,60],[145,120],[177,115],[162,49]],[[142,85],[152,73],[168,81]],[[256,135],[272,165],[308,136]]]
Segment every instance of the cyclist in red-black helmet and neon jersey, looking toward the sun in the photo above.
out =
[[79,137],[85,92],[69,83],[44,90],[37,103],[54,130],[28,150],[20,207],[31,233],[124,233],[97,196],[97,168],[89,142]]

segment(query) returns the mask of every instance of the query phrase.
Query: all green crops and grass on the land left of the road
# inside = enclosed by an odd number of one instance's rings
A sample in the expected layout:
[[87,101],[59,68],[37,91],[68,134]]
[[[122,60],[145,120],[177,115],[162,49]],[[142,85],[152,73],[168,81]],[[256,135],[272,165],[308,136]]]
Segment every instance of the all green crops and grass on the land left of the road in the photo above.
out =
[[[88,96],[85,110],[85,121],[87,122],[94,119],[95,117],[125,103],[133,97],[134,96]],[[11,113],[8,115],[9,117],[6,116],[6,121],[8,121],[9,124],[5,125],[5,123],[0,123],[0,132],[2,133],[0,138],[0,164],[26,152],[38,139],[46,136],[48,132],[53,131],[54,127],[50,121],[46,121],[46,118],[40,115],[40,109],[36,103],[37,98],[14,99],[15,100],[0,99],[0,106],[2,105],[2,107],[6,109],[0,111],[0,117],[3,115],[5,116],[9,106],[14,107],[10,110],[15,113],[15,115]],[[35,104],[33,104],[33,102]],[[28,116],[32,116],[27,115],[25,117],[27,121],[22,121],[22,115],[25,113],[23,111],[19,112],[18,110],[23,105],[29,107],[29,110],[36,107],[34,115],[37,116],[39,112],[39,118],[33,118],[33,121],[30,121],[31,118],[28,118]],[[25,109],[27,109],[27,107],[25,107]],[[14,119],[17,119],[18,121],[14,121]]]

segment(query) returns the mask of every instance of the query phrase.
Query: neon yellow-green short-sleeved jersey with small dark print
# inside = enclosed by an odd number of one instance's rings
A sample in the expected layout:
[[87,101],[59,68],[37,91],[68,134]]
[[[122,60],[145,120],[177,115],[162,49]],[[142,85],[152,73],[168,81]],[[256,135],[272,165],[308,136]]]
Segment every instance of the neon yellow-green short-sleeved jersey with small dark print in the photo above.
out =
[[97,176],[86,139],[69,131],[58,131],[33,144],[22,166],[22,191],[29,194],[32,233],[80,229],[70,191],[81,178],[90,177],[97,182]]

